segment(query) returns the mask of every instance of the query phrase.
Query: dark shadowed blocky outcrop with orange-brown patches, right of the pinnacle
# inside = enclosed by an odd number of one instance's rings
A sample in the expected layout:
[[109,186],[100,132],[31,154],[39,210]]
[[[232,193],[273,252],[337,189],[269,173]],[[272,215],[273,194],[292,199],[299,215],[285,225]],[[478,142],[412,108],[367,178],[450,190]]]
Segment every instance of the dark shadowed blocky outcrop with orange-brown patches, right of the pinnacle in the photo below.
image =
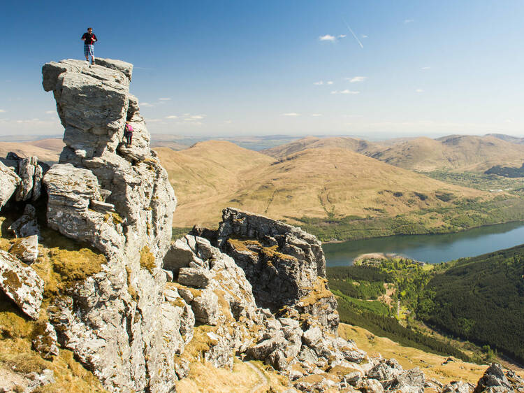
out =
[[194,233],[206,234],[235,259],[253,287],[257,305],[272,312],[292,308],[337,331],[337,301],[329,292],[326,259],[314,236],[234,208],[224,209],[216,233],[198,228]]

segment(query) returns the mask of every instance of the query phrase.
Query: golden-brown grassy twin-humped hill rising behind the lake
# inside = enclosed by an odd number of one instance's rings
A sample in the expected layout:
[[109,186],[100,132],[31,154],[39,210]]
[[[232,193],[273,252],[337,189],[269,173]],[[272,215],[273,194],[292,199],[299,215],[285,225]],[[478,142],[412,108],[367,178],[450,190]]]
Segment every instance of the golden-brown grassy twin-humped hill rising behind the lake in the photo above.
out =
[[[280,162],[217,141],[158,152],[178,198],[175,227],[216,224],[226,206],[301,224],[303,217],[396,217],[493,199],[342,148],[308,149]],[[420,220],[428,227],[444,224],[435,212]]]

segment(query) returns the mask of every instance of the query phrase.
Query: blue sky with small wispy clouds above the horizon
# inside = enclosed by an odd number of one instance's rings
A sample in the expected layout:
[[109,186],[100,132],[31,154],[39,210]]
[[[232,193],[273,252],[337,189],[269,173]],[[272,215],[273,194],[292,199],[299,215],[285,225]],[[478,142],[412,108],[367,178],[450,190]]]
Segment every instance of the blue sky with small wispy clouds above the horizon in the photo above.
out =
[[152,133],[522,136],[523,20],[521,0],[8,2],[0,137],[61,134],[41,66],[82,59],[87,26],[135,65]]

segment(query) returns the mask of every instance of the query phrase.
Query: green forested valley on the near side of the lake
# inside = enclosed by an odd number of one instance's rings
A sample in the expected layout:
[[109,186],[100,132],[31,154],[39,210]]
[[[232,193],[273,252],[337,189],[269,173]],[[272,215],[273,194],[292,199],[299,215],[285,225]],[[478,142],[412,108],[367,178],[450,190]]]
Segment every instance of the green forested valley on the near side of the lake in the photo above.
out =
[[370,254],[327,273],[342,322],[425,352],[513,359],[519,369],[523,258],[523,245],[434,265]]

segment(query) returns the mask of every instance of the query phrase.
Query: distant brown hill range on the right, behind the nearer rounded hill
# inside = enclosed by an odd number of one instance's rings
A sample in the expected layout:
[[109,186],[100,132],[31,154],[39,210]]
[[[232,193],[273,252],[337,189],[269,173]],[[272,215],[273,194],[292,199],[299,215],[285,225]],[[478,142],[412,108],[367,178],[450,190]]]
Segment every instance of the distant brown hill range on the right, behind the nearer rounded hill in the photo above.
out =
[[495,136],[453,135],[431,139],[405,138],[395,143],[371,143],[354,138],[303,138],[262,152],[282,159],[307,148],[337,147],[414,171],[483,172],[495,165],[521,166],[524,146]]

